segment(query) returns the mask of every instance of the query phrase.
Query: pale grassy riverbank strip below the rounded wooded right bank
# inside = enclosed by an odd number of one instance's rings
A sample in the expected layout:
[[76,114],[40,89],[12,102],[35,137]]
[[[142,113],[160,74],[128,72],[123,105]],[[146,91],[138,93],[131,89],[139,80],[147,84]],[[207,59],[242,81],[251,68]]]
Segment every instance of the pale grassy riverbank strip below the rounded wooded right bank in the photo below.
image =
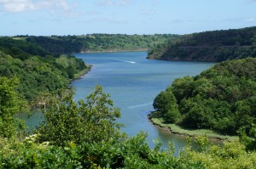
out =
[[155,126],[160,127],[160,129],[169,131],[172,134],[182,135],[185,137],[207,136],[209,139],[221,140],[221,141],[239,140],[237,136],[221,135],[221,134],[218,134],[217,132],[213,132],[212,130],[207,130],[207,129],[190,130],[190,129],[184,129],[182,127],[179,127],[176,124],[165,124],[163,123],[161,118],[150,117],[150,115],[151,114],[148,115],[149,121],[151,121]]

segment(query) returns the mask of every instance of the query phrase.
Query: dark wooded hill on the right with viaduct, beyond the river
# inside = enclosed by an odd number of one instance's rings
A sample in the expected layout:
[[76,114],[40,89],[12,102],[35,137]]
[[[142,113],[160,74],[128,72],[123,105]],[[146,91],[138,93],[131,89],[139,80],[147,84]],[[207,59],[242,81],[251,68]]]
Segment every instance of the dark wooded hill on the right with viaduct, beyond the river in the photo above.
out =
[[256,57],[256,27],[206,31],[151,48],[148,59],[212,61]]

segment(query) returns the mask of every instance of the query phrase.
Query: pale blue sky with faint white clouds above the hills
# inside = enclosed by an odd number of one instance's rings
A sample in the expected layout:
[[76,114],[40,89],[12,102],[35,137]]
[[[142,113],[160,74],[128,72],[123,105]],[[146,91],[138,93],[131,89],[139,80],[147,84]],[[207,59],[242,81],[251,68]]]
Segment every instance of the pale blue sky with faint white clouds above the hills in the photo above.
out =
[[189,34],[256,25],[256,0],[0,0],[0,36]]

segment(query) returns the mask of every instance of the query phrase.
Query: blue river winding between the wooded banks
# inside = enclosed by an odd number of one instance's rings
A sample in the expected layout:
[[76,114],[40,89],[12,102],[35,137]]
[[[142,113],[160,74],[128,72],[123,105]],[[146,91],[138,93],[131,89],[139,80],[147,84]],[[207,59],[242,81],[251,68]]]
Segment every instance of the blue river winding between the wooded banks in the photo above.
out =
[[[134,136],[137,132],[148,132],[148,144],[153,147],[153,139],[159,138],[163,147],[172,141],[177,149],[185,145],[182,136],[170,134],[148,121],[147,115],[154,110],[152,104],[160,91],[168,87],[178,77],[195,76],[207,70],[214,63],[183,62],[145,59],[147,52],[120,52],[74,54],[87,64],[93,65],[90,72],[72,82],[76,87],[75,99],[84,99],[96,85],[111,95],[115,107],[121,109],[124,132]],[[176,152],[176,154],[177,154]]]

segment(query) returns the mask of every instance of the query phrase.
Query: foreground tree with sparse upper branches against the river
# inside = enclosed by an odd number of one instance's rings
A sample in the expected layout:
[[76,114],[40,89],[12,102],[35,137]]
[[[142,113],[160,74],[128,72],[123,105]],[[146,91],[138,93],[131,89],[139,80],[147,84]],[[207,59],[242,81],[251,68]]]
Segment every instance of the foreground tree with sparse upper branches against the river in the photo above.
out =
[[73,101],[73,93],[61,101],[52,100],[44,110],[44,121],[38,127],[40,142],[49,141],[56,145],[67,142],[81,144],[108,140],[118,133],[120,125],[115,120],[119,109],[113,108],[109,95],[96,86],[86,101]]

